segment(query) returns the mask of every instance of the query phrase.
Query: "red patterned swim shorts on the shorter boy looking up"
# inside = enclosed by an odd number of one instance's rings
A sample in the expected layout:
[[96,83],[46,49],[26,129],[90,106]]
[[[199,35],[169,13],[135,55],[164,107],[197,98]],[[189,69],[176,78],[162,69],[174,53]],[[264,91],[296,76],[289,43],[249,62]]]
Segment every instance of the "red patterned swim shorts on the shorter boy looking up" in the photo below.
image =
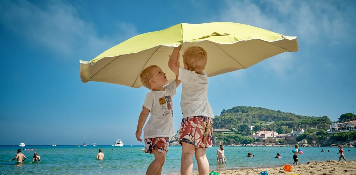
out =
[[168,137],[155,137],[145,139],[145,153],[152,154],[152,150],[157,150],[167,155],[169,143]]

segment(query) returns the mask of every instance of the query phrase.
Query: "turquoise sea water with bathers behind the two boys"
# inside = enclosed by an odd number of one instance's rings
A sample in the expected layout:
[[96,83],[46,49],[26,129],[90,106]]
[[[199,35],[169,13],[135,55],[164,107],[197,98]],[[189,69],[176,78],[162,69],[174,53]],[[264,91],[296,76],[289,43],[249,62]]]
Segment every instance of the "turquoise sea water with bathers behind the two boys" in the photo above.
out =
[[[40,162],[32,163],[33,152],[22,151],[27,157],[25,163],[16,164],[14,158],[17,149],[38,149],[36,152],[41,156]],[[103,148],[104,160],[96,160],[98,150]],[[73,145],[41,145],[37,147],[19,147],[0,145],[0,174],[132,174],[141,175],[146,173],[148,165],[153,160],[153,154],[143,153],[143,145],[113,147],[99,145],[98,147],[73,147]],[[207,157],[210,170],[228,170],[240,168],[256,168],[267,166],[279,166],[293,163],[292,147],[227,147],[225,157],[227,164],[218,165],[216,150],[219,147],[207,149]],[[326,147],[302,147],[303,154],[299,155],[299,163],[306,164],[308,161],[339,160],[337,148]],[[321,152],[324,149],[325,152]],[[330,150],[328,153],[327,150]],[[351,152],[347,150],[350,149]],[[162,174],[179,174],[180,154],[182,147],[171,146],[163,166]],[[345,158],[356,160],[356,148],[345,148]],[[252,152],[255,157],[246,157]],[[272,158],[280,153],[283,159]],[[197,173],[197,162],[194,158],[193,172]]]

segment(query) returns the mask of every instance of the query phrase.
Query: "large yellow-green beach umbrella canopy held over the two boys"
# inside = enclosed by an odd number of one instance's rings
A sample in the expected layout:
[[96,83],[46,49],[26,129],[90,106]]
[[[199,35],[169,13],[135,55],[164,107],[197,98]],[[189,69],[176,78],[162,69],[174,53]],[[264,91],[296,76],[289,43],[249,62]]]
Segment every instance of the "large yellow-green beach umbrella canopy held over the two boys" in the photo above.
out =
[[[143,86],[141,71],[158,65],[171,82],[175,75],[168,68],[168,55],[179,44],[180,55],[189,46],[206,50],[208,62],[204,71],[208,76],[246,69],[274,55],[298,51],[297,37],[253,26],[233,22],[180,23],[127,39],[89,62],[80,61],[80,79],[83,83],[100,81],[139,88]],[[183,65],[182,57],[180,64]]]

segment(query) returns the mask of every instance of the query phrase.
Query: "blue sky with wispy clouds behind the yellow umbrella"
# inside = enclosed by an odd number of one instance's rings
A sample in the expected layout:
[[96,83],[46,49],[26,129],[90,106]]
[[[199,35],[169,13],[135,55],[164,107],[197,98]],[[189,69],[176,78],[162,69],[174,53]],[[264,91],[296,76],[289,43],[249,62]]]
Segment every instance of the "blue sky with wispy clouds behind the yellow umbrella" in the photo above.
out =
[[0,144],[82,144],[84,137],[142,144],[135,131],[148,90],[83,84],[79,60],[181,22],[237,22],[298,37],[298,52],[209,78],[215,115],[255,106],[336,121],[356,106],[355,1],[2,0],[0,12]]

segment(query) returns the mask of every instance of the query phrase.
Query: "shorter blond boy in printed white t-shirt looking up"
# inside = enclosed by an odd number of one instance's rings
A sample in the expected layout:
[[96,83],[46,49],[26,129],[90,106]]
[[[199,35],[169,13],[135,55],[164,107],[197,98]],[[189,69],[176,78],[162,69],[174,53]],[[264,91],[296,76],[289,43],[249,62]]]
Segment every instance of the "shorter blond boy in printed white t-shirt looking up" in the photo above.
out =
[[155,160],[148,166],[146,175],[160,175],[162,173],[162,166],[169,148],[168,139],[175,134],[172,97],[176,95],[177,86],[180,84],[177,78],[176,76],[175,81],[164,86],[168,82],[166,73],[156,65],[145,68],[140,75],[142,84],[151,91],[147,93],[142,105],[137,123],[136,138],[142,142],[140,138],[142,127],[150,113],[151,116],[145,128],[143,128],[143,139],[145,139],[145,153],[155,155]]

